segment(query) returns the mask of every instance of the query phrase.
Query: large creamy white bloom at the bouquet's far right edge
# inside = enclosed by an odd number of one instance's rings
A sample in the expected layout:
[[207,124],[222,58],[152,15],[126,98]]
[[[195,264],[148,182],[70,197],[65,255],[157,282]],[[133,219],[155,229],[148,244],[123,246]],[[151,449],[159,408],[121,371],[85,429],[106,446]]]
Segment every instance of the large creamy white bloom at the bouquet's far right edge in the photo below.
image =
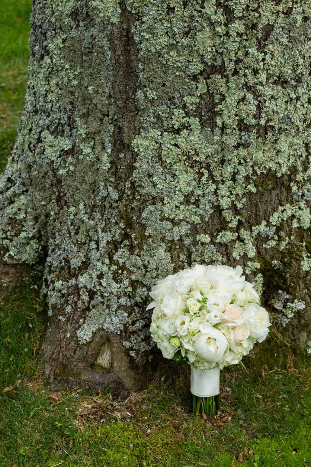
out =
[[268,312],[256,303],[244,307],[245,323],[249,326],[250,337],[258,342],[263,342],[269,333]]

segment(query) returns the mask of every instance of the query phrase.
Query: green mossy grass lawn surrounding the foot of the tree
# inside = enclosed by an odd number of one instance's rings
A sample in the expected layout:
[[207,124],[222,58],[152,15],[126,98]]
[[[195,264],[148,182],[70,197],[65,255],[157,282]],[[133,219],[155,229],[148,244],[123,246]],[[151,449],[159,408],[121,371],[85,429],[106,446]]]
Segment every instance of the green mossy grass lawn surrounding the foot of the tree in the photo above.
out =
[[[3,169],[26,88],[30,1],[1,0],[1,14]],[[262,352],[221,372],[225,409],[206,419],[191,414],[189,368],[174,362],[126,401],[79,389],[51,394],[36,366],[46,319],[40,287],[28,270],[0,293],[0,467],[311,465],[310,368],[276,332]]]

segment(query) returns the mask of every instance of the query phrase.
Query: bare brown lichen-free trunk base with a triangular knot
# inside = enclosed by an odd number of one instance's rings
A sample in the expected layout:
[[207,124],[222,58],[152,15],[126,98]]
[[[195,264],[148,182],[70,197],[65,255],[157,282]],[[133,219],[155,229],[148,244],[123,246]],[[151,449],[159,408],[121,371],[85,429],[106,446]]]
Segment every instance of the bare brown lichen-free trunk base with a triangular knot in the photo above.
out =
[[93,392],[104,388],[122,394],[137,389],[145,378],[131,365],[123,336],[101,330],[81,344],[76,334],[80,319],[77,312],[62,319],[52,316],[49,321],[38,362],[51,390],[67,386]]

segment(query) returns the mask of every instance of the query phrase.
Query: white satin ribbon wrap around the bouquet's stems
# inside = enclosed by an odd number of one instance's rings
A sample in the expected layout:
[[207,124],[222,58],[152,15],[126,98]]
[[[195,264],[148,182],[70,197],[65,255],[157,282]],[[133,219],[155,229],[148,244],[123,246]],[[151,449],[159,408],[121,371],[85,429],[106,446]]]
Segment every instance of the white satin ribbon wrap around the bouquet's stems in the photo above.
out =
[[217,396],[219,394],[220,369],[199,370],[191,367],[190,382],[190,391],[194,396]]

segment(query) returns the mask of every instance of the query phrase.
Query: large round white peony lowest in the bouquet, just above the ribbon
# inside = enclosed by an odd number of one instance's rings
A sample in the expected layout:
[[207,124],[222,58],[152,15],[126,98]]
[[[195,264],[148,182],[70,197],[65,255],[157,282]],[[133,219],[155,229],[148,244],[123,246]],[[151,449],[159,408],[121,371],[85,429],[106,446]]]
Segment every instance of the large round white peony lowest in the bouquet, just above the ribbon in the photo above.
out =
[[207,362],[220,361],[228,350],[227,338],[214,327],[210,327],[205,334],[199,334],[195,342],[198,356]]

